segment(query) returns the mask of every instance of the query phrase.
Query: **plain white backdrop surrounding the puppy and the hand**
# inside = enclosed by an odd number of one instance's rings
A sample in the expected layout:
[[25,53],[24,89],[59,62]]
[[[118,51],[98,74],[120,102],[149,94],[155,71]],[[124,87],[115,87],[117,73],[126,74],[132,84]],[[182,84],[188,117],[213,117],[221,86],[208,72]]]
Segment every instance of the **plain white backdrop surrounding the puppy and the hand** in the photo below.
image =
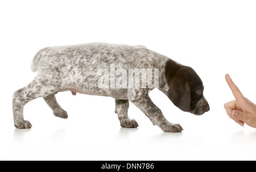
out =
[[[255,1],[1,1],[0,160],[256,160],[256,129],[233,122],[229,73],[256,102]],[[138,128],[119,126],[114,99],[57,94],[68,119],[38,98],[24,108],[30,130],[15,129],[13,92],[35,77],[30,64],[46,46],[86,42],[144,45],[191,66],[203,80],[210,111],[185,113],[159,90],[152,101],[183,132],[164,133],[130,104]]]

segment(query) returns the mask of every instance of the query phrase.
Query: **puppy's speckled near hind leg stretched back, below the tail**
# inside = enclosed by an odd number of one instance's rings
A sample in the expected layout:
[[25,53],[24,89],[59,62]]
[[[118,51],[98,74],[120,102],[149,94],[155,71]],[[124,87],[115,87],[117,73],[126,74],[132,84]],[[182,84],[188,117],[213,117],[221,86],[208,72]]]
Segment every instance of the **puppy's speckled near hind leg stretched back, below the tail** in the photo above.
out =
[[27,102],[38,97],[46,97],[50,94],[60,91],[60,83],[52,82],[51,78],[47,79],[44,75],[36,78],[26,87],[15,91],[13,94],[13,117],[16,128],[31,128],[29,121],[24,120],[23,108]]

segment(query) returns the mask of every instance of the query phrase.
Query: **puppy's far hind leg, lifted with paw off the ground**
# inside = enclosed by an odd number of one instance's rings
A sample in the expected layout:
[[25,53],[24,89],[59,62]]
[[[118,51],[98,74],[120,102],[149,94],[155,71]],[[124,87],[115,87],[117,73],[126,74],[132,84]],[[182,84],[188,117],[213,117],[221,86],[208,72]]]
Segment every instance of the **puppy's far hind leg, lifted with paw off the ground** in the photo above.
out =
[[43,97],[44,101],[46,101],[47,105],[52,109],[53,114],[56,117],[67,119],[68,113],[67,113],[67,111],[65,111],[64,109],[62,109],[60,107],[60,105],[58,104],[58,102],[56,100],[55,94],[57,94],[57,92],[50,94],[49,96]]

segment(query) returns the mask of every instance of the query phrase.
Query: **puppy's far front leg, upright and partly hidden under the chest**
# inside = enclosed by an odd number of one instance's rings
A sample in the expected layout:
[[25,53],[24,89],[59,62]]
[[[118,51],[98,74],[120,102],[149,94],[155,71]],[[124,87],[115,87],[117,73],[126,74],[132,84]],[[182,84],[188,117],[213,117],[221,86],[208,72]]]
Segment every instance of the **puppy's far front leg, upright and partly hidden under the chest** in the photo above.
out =
[[115,113],[118,115],[121,127],[137,128],[139,125],[135,119],[128,117],[129,100],[115,99]]

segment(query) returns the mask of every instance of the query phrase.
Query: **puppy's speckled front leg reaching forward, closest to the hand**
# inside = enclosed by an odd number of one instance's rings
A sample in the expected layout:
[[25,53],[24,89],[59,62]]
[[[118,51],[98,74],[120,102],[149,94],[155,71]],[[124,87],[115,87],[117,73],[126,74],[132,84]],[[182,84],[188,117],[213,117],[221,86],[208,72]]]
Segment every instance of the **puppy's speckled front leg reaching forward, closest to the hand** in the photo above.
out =
[[162,111],[151,101],[146,89],[129,89],[127,96],[130,102],[143,111],[150,121],[164,132],[181,132],[183,130],[180,124],[167,121]]

